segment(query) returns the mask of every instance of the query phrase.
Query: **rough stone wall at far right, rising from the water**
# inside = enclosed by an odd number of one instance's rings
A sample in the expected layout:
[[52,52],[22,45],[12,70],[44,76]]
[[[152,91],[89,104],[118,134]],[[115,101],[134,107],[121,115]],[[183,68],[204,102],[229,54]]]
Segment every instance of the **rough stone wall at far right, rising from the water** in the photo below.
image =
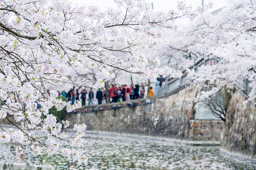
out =
[[244,103],[245,100],[240,92],[231,92],[221,147],[224,152],[256,160],[256,107],[251,101]]

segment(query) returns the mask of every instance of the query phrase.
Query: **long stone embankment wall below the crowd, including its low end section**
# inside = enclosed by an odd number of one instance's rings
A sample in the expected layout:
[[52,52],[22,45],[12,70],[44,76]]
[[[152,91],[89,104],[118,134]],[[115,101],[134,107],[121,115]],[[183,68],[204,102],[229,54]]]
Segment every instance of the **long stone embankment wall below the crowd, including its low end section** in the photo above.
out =
[[218,120],[191,120],[192,99],[196,90],[182,89],[156,98],[154,103],[105,111],[76,113],[66,119],[85,123],[88,130],[107,130],[188,140],[220,140],[223,126]]

